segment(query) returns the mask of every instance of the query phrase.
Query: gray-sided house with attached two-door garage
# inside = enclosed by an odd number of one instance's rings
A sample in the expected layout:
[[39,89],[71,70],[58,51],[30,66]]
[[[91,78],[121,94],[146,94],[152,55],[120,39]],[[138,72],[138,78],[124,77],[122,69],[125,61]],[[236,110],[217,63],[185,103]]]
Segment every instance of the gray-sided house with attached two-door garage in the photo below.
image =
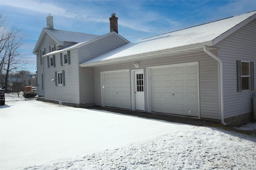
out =
[[[97,43],[108,36],[116,38]],[[46,47],[41,45],[49,39],[38,40],[34,53],[58,44],[52,40]],[[115,47],[102,51],[112,43]],[[61,66],[61,54],[70,54],[71,64]],[[54,59],[55,64],[49,66]],[[40,55],[37,60],[40,66]],[[45,100],[239,125],[252,119],[252,97],[256,95],[256,11],[138,43],[110,32],[51,53],[46,51],[42,61],[38,69]]]

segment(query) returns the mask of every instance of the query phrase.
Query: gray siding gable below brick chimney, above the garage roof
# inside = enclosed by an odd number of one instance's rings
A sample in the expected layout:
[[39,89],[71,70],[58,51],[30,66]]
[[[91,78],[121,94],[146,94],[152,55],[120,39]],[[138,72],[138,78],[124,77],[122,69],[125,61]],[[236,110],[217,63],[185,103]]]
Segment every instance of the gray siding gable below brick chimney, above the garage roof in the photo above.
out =
[[94,41],[88,45],[80,47],[79,50],[79,64],[82,64],[90,59],[98,57],[108,51],[116,49],[127,42],[120,39],[116,35],[108,35],[102,39]]

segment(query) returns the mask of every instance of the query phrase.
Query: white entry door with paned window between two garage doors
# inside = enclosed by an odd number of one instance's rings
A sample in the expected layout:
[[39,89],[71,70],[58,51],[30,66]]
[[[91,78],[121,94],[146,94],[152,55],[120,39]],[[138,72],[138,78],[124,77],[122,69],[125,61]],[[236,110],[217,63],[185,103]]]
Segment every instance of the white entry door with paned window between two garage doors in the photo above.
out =
[[145,110],[145,96],[144,96],[144,73],[143,71],[135,71],[135,109]]

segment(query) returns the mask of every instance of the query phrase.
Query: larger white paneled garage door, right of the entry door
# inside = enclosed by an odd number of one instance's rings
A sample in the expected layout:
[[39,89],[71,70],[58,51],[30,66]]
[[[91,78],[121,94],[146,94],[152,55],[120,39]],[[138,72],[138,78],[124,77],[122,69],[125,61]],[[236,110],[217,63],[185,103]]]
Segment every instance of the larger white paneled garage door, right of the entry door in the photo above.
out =
[[150,69],[152,111],[198,116],[198,64]]

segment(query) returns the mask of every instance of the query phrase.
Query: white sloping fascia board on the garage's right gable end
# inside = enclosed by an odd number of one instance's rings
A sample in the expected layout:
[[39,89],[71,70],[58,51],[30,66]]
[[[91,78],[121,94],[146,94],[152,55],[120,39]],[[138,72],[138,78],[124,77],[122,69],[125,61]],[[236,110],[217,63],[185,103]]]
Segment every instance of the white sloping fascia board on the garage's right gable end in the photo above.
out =
[[236,26],[232,27],[231,29],[229,29],[228,31],[226,31],[225,33],[223,33],[222,35],[216,37],[213,41],[212,41],[212,45],[216,45],[217,43],[219,43],[220,41],[222,41],[224,38],[228,37],[229,35],[231,35],[232,33],[234,33],[235,31],[237,31],[238,29],[240,29],[241,27],[243,27],[244,25],[246,25],[247,23],[251,22],[252,20],[254,20],[256,18],[256,14],[250,16],[249,18],[247,18],[246,20],[238,23]]

